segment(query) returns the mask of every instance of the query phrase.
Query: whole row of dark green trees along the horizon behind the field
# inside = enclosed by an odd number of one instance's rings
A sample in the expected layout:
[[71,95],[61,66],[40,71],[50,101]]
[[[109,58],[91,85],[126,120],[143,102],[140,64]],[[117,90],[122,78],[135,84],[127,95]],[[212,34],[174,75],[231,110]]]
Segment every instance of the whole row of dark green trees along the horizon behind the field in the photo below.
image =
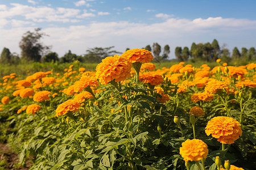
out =
[[[40,28],[36,28],[34,32],[27,31],[22,36],[22,39],[19,42],[19,48],[21,50],[21,54],[11,53],[8,48],[3,48],[0,62],[1,63],[21,63],[21,62],[87,62],[87,63],[99,63],[101,59],[104,59],[108,56],[113,56],[115,54],[122,54],[121,52],[117,52],[113,50],[114,46],[101,48],[89,48],[86,50],[86,54],[77,55],[68,51],[64,56],[59,57],[56,52],[51,52],[51,46],[44,45],[40,40],[44,36],[48,36],[45,33],[40,32]],[[154,55],[155,61],[166,61],[168,60],[171,52],[171,48],[169,45],[165,45],[162,47],[155,42],[152,45],[147,45],[144,49],[149,50]],[[127,48],[126,50],[129,50]],[[162,52],[162,53],[161,53]],[[178,61],[188,61],[192,62],[201,60],[201,61],[216,61],[216,59],[220,58],[224,62],[230,62],[233,59],[243,59],[246,61],[255,61],[256,60],[256,50],[254,47],[250,49],[242,48],[241,52],[235,47],[230,53],[229,49],[226,48],[226,45],[223,45],[220,48],[218,41],[214,39],[212,43],[207,42],[205,44],[195,42],[192,43],[191,48],[189,49],[187,46],[182,48],[181,46],[177,46],[174,50],[175,57]]]

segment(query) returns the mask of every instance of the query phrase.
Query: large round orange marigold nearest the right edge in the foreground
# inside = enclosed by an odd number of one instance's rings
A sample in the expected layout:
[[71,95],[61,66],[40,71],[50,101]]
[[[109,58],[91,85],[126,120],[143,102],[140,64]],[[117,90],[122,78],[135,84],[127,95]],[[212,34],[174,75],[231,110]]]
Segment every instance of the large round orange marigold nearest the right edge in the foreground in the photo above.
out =
[[212,134],[218,142],[230,145],[242,135],[242,130],[240,123],[232,117],[217,116],[208,121],[205,133],[208,136]]

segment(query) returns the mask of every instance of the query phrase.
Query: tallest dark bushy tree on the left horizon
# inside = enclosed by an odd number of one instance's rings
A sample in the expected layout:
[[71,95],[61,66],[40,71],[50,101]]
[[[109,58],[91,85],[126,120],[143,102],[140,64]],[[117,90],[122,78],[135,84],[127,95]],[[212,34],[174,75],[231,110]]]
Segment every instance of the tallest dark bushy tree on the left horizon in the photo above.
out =
[[49,46],[43,45],[40,42],[45,33],[40,32],[41,28],[36,28],[35,32],[27,31],[22,36],[22,40],[19,42],[19,48],[21,49],[21,56],[27,61],[39,62],[41,57],[50,49]]

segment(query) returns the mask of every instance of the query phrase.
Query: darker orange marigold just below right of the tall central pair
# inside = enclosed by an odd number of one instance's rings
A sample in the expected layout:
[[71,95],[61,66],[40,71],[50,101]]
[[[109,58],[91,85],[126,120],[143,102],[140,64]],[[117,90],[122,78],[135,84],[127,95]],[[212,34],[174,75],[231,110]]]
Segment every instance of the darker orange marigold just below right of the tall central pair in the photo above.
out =
[[154,71],[146,72],[139,75],[139,80],[143,83],[150,83],[151,85],[158,85],[163,82],[163,76]]

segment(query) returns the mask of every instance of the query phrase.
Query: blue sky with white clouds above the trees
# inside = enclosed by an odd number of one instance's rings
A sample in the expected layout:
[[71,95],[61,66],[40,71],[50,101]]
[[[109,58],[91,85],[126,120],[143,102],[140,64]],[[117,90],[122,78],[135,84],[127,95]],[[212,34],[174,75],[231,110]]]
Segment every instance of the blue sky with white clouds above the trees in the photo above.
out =
[[42,28],[42,42],[59,57],[68,50],[115,46],[143,48],[158,42],[171,48],[218,40],[232,52],[256,47],[255,0],[0,0],[0,51],[20,53],[27,31]]

